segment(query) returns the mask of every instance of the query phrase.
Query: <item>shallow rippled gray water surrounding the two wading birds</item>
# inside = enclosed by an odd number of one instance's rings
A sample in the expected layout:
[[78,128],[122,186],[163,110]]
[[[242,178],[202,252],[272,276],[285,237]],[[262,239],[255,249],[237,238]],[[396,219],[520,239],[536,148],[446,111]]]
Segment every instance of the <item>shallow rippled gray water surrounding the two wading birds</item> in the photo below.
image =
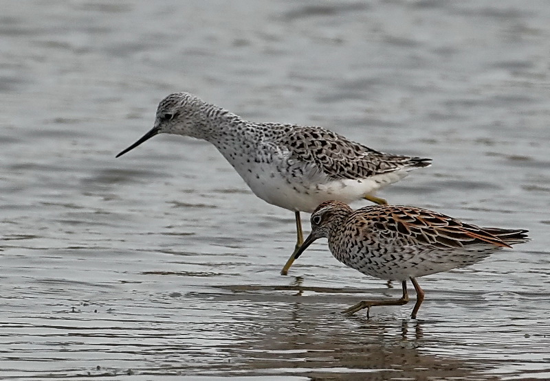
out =
[[[1,379],[550,378],[547,1],[1,9]],[[399,287],[325,242],[279,275],[293,214],[208,143],[114,158],[174,91],[432,157],[380,196],[533,240],[419,279],[418,320],[342,316]]]

